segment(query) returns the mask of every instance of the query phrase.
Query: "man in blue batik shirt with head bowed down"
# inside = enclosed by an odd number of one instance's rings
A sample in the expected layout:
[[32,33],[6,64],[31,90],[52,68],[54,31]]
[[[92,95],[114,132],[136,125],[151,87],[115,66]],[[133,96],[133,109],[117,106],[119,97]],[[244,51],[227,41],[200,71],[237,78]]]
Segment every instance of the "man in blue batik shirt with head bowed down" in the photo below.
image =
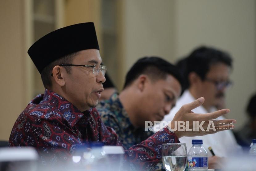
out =
[[[179,70],[158,57],[139,59],[126,75],[124,89],[101,101],[97,110],[126,149],[153,135],[145,121],[161,121],[180,96]],[[161,138],[161,137],[158,137]],[[167,137],[162,137],[163,140]]]

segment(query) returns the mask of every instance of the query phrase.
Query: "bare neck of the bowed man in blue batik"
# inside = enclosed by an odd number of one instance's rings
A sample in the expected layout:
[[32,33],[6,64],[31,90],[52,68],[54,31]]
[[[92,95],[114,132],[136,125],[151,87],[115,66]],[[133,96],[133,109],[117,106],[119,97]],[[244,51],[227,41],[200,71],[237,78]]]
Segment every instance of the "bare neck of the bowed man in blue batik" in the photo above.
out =
[[133,95],[133,90],[126,88],[119,94],[119,100],[121,101],[123,108],[126,110],[132,125],[135,128],[138,128],[138,117],[136,117],[138,116],[136,111],[137,105],[134,103],[136,97]]

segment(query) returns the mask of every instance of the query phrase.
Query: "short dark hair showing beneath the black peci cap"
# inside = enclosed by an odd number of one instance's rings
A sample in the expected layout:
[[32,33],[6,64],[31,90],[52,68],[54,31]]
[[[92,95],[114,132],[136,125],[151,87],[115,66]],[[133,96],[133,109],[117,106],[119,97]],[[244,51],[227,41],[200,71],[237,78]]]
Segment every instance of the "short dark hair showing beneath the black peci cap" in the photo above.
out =
[[[71,64],[73,57],[77,54],[78,52],[74,52],[72,54],[65,55],[62,58],[59,58],[53,62],[51,62],[49,65],[47,65],[41,72],[41,79],[43,82],[43,86],[46,89],[51,89],[52,88],[52,69],[56,65],[60,64]],[[64,66],[67,73],[71,74],[71,66]]]

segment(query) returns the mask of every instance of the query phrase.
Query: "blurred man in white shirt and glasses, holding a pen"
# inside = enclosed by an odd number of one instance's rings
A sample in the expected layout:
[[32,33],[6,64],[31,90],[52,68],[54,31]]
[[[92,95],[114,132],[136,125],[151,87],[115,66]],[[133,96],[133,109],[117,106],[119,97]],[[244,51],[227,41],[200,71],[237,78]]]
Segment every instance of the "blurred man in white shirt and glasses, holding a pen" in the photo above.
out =
[[[185,77],[185,91],[175,108],[164,117],[163,121],[172,120],[182,105],[198,97],[204,97],[205,101],[203,105],[193,110],[195,113],[208,113],[216,111],[217,108],[224,108],[225,91],[231,85],[229,75],[232,70],[232,58],[229,54],[202,46],[187,58],[181,59],[177,66],[181,68]],[[218,119],[225,118],[221,116]],[[182,137],[180,142],[186,143],[187,148],[190,149],[192,139],[203,139],[203,145],[207,150],[209,146],[212,147],[216,156],[212,157],[208,150],[210,169],[219,169],[222,166],[220,157],[228,157],[240,149],[231,130],[202,137]]]

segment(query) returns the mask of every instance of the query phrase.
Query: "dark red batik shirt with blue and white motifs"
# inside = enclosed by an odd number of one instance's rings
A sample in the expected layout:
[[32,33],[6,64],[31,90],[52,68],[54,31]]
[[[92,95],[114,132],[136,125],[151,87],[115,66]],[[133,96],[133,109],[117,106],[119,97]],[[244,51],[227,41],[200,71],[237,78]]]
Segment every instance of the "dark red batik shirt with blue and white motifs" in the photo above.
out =
[[[43,165],[54,165],[69,159],[77,145],[92,141],[122,145],[114,130],[101,121],[95,108],[81,112],[46,89],[19,115],[11,130],[9,146],[33,146]],[[154,169],[162,157],[162,144],[177,142],[177,136],[165,128],[126,150],[125,162],[137,169]]]

